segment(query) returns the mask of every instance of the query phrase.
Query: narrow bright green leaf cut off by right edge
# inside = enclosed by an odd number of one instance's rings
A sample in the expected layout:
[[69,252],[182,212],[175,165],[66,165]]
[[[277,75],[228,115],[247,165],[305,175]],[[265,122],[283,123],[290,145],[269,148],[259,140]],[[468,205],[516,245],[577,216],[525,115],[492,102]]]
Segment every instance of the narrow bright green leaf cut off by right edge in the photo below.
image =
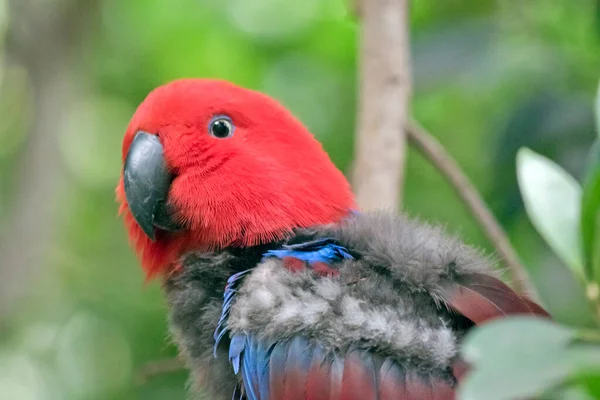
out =
[[581,237],[586,274],[600,282],[600,139],[590,149],[581,200]]

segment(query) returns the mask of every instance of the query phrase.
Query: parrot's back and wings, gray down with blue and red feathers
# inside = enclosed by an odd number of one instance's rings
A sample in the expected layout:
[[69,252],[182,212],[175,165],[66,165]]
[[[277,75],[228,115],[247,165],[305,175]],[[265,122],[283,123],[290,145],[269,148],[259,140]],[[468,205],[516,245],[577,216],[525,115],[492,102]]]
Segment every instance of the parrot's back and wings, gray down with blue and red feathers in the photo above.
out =
[[215,334],[230,333],[249,400],[451,399],[471,326],[547,316],[478,253],[401,217],[358,215],[264,256],[230,279]]

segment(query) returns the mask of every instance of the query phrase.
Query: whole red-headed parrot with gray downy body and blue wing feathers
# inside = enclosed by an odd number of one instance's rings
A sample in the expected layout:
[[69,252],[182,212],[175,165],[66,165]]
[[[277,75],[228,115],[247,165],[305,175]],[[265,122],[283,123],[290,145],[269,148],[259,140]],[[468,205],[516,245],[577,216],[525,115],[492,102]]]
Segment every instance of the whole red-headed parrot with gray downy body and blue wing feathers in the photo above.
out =
[[453,399],[471,329],[550,317],[441,226],[361,211],[299,119],[226,80],[147,94],[124,135],[116,195],[193,395]]

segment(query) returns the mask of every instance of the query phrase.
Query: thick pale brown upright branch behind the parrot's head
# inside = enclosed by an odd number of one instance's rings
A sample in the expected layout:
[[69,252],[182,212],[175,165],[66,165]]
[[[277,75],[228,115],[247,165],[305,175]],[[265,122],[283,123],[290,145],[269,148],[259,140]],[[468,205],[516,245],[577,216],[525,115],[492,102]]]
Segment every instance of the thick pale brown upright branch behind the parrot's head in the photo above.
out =
[[359,112],[353,186],[363,210],[397,210],[411,95],[409,0],[358,0]]

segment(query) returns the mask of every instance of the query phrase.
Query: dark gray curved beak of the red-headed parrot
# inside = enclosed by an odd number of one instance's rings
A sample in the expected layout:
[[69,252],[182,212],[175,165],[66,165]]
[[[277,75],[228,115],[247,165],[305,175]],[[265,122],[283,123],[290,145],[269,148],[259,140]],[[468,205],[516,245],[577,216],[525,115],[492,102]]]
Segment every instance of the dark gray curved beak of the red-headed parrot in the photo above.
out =
[[167,169],[163,146],[156,135],[136,133],[125,159],[123,178],[129,209],[151,240],[156,240],[155,228],[181,230],[168,207],[173,175]]

